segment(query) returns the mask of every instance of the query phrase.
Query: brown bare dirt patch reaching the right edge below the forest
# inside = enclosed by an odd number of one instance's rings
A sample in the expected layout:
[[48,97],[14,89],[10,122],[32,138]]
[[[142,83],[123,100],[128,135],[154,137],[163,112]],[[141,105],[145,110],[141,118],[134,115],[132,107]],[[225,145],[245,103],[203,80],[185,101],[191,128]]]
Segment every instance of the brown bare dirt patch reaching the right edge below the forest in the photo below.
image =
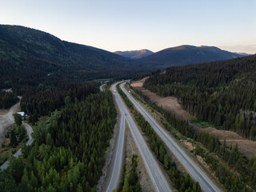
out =
[[216,130],[213,127],[208,127],[202,129],[201,131],[218,136],[220,141],[224,141],[224,139],[226,138],[226,144],[228,146],[234,146],[236,143],[238,143],[238,149],[248,158],[256,157],[256,142],[250,141],[246,138],[242,138],[242,136],[233,131]]

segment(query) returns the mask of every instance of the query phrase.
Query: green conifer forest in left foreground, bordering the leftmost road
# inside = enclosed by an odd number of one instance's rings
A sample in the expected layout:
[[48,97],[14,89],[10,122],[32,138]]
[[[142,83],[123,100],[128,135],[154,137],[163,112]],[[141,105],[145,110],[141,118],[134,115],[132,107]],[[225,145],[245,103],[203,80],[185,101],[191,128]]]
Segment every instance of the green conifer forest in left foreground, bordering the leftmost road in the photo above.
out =
[[81,101],[70,97],[34,126],[34,144],[0,172],[1,191],[96,191],[117,113],[110,91],[84,88]]

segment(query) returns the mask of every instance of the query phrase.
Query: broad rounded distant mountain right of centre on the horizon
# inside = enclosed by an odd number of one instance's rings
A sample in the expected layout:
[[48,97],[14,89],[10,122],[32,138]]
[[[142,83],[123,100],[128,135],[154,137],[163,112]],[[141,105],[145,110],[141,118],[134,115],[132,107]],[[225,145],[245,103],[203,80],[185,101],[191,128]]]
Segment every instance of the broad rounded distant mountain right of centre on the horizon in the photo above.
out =
[[147,66],[166,68],[168,66],[185,66],[202,62],[213,62],[230,58],[241,57],[215,46],[176,46],[160,50],[145,58],[138,59],[138,62]]

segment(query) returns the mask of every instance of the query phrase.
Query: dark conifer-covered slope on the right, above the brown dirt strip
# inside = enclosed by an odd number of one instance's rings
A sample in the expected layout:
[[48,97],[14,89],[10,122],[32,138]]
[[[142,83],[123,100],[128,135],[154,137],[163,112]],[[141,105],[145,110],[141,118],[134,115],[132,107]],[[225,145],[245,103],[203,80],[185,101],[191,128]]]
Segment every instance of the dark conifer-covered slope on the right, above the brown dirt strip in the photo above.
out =
[[256,55],[154,74],[144,85],[161,96],[177,96],[186,110],[224,130],[256,139]]

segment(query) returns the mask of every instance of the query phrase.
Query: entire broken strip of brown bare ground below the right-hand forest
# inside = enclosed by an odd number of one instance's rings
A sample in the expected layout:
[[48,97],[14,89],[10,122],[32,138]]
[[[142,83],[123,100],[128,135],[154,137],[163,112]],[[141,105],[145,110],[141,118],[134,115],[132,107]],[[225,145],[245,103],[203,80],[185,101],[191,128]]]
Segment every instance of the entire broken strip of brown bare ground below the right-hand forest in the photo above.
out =
[[[157,94],[154,94],[150,90],[146,90],[143,88],[143,83],[146,78],[142,78],[137,82],[132,82],[131,86],[134,89],[141,90],[143,94],[146,94],[152,102],[155,102],[158,106],[161,106],[163,109],[169,110],[173,114],[177,116],[177,118],[182,118],[184,120],[188,120],[193,118],[191,114],[189,114],[186,110],[182,109],[182,106],[178,103],[178,98],[175,97],[166,97],[162,98]],[[218,138],[223,141],[226,138],[226,143],[228,145],[235,145],[238,143],[239,150],[245,154],[248,158],[256,157],[256,142],[251,141],[246,138],[242,138],[242,136],[238,135],[234,131],[230,130],[217,130],[214,127],[202,128],[199,126],[194,126],[196,130],[205,131],[209,134],[213,134],[218,136]]]

